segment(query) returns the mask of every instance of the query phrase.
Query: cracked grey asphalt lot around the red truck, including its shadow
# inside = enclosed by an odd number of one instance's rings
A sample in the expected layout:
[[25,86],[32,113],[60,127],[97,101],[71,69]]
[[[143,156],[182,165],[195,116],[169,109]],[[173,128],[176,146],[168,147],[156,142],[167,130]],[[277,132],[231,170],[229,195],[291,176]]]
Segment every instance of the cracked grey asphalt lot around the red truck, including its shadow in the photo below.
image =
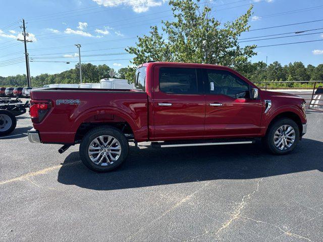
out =
[[31,144],[28,113],[0,138],[1,241],[323,241],[323,112],[297,149],[131,146],[95,173],[78,145]]

